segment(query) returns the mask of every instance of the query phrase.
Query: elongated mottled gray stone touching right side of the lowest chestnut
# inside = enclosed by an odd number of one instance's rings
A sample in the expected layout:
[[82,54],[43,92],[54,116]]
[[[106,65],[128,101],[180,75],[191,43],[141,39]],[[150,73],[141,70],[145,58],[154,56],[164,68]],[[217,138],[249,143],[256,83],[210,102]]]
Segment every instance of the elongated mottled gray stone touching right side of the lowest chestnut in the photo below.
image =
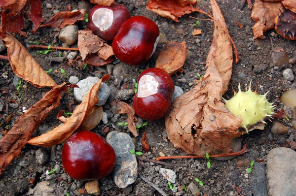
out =
[[112,172],[113,181],[119,188],[126,188],[138,177],[136,156],[129,152],[135,150],[135,145],[127,133],[120,131],[111,131],[107,135],[107,142],[116,154],[116,165]]

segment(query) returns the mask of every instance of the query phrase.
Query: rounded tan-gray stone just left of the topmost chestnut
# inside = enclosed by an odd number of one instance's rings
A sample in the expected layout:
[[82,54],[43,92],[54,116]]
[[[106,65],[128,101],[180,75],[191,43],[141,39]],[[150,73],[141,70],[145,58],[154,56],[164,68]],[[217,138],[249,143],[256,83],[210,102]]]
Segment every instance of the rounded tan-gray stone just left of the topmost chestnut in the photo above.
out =
[[72,45],[77,41],[78,38],[78,26],[77,25],[68,25],[65,28],[61,29],[59,35],[61,41]]

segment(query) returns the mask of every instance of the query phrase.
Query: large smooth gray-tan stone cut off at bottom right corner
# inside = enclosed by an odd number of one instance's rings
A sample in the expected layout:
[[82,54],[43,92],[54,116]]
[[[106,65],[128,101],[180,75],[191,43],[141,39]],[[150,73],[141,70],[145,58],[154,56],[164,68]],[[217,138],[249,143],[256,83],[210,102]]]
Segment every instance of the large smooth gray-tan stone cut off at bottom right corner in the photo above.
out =
[[266,178],[270,196],[296,196],[296,152],[283,147],[270,150]]

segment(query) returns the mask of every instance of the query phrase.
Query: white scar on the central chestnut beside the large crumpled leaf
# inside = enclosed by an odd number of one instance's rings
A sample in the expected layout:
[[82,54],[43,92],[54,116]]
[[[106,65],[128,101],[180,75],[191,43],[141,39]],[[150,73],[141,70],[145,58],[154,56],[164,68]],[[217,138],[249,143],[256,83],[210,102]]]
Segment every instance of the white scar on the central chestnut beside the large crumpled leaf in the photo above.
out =
[[143,75],[138,85],[138,98],[146,98],[158,91],[158,82],[151,75]]

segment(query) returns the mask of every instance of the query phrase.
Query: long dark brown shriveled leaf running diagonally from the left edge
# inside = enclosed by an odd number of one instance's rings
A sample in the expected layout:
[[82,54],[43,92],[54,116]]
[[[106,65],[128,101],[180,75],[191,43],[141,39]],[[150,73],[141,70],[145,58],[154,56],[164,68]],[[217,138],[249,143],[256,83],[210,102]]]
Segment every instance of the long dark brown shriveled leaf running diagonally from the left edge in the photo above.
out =
[[47,117],[51,110],[60,104],[61,92],[67,87],[55,86],[35,105],[28,109],[0,140],[0,173],[17,157],[32,133]]

